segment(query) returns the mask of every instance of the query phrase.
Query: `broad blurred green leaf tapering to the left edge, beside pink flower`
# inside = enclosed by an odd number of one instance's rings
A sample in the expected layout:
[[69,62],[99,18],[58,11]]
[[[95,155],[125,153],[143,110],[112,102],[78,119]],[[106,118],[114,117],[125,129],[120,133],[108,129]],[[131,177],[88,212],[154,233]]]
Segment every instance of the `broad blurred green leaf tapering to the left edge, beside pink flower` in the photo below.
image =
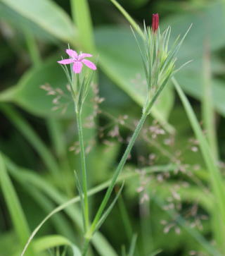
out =
[[[67,81],[62,68],[51,58],[37,68],[31,68],[22,76],[18,84],[1,92],[0,101],[10,101],[38,116],[68,117],[73,114],[73,102],[66,88]],[[65,95],[59,99],[60,108],[53,111],[53,99],[56,95],[46,95],[41,85],[49,84],[53,89],[60,88]],[[65,114],[62,114],[65,108]]]

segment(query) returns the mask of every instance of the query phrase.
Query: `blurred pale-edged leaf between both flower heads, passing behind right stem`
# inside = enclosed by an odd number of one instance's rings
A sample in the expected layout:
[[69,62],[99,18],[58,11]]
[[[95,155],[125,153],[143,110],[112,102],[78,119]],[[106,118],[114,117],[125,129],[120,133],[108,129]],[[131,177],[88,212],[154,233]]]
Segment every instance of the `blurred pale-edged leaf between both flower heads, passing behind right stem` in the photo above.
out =
[[[146,71],[143,71],[143,58],[139,54],[139,46],[131,30],[117,27],[98,28],[95,35],[103,72],[134,102],[143,106],[147,93],[143,83]],[[118,41],[120,47],[117,47]],[[152,114],[165,130],[174,133],[174,127],[167,121],[174,97],[171,88],[167,87],[166,91],[165,94],[162,92],[159,98],[159,101],[164,103],[163,108],[160,104],[155,104]]]

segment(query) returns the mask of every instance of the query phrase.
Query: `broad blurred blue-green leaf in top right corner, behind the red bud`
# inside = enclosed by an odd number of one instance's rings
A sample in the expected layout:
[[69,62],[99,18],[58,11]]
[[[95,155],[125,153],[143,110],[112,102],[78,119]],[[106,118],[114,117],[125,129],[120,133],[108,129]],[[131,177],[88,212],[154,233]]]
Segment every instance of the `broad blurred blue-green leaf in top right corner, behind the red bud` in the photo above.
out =
[[161,29],[171,26],[171,37],[174,39],[177,35],[183,35],[193,24],[178,54],[178,60],[182,63],[187,61],[187,58],[195,60],[203,56],[203,44],[206,39],[209,40],[211,51],[224,47],[224,4],[222,1],[209,3],[196,12],[179,13],[160,22]]

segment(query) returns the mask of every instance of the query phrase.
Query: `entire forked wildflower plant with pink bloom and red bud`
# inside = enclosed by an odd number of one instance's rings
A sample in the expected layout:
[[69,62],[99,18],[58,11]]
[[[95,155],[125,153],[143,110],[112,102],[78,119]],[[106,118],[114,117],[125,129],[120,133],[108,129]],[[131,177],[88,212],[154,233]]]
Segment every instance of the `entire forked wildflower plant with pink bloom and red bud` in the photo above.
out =
[[[84,138],[82,131],[82,106],[84,104],[86,96],[88,95],[91,81],[94,77],[94,71],[96,71],[96,65],[86,59],[91,57],[91,54],[77,54],[77,52],[72,49],[66,50],[67,54],[70,56],[70,59],[62,59],[61,61],[58,61],[58,63],[60,63],[60,65],[62,66],[66,77],[68,78],[72,99],[75,102],[75,113],[77,117],[82,181],[79,181],[77,173],[75,173],[75,177],[77,180],[77,189],[79,191],[79,197],[81,201],[82,219],[84,225],[84,245],[82,248],[82,256],[86,255],[89,248],[89,243],[93,238],[94,233],[98,231],[98,229],[101,227],[105,219],[108,217],[108,214],[110,214],[110,211],[113,209],[115,202],[117,202],[118,197],[120,197],[123,184],[120,187],[120,190],[117,192],[117,195],[115,196],[113,202],[111,202],[108,208],[105,209],[110,200],[110,196],[113,193],[113,188],[115,188],[117,179],[120,176],[124,164],[129,157],[136,138],[138,138],[139,133],[143,128],[143,124],[145,123],[146,118],[150,114],[150,110],[153,104],[155,104],[156,100],[160,96],[160,93],[167,85],[167,82],[172,77],[172,75],[174,75],[174,73],[179,70],[176,69],[175,66],[176,54],[179,51],[179,48],[181,47],[181,44],[188,33],[187,31],[184,37],[182,37],[180,40],[179,37],[177,37],[174,44],[172,44],[172,47],[169,48],[169,36],[171,28],[168,27],[164,32],[160,32],[158,13],[153,14],[153,25],[151,28],[144,25],[143,32],[140,28],[138,28],[137,31],[141,35],[141,40],[143,44],[142,48],[139,39],[137,39],[134,33],[141,52],[143,70],[146,75],[148,92],[146,94],[146,102],[143,105],[139,123],[137,124],[133,135],[131,135],[127,148],[124,151],[122,158],[120,159],[117,169],[115,169],[115,172],[113,173],[110,185],[108,186],[103,200],[101,201],[101,205],[98,207],[98,210],[92,221],[89,214],[89,198],[87,187],[88,173],[86,170],[86,156],[84,151]],[[68,67],[67,65],[70,66]],[[91,71],[84,71],[83,66],[87,66],[89,69],[91,69]],[[27,245],[25,249],[27,248]],[[25,252],[25,250],[23,252]]]

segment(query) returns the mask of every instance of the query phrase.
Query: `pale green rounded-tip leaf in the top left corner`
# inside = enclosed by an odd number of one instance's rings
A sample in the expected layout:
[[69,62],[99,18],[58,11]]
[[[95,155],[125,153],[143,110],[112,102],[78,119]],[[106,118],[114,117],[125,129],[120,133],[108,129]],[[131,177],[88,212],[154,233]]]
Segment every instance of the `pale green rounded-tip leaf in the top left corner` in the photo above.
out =
[[1,2],[54,37],[65,42],[72,42],[75,39],[75,28],[68,14],[54,1],[1,0]]

